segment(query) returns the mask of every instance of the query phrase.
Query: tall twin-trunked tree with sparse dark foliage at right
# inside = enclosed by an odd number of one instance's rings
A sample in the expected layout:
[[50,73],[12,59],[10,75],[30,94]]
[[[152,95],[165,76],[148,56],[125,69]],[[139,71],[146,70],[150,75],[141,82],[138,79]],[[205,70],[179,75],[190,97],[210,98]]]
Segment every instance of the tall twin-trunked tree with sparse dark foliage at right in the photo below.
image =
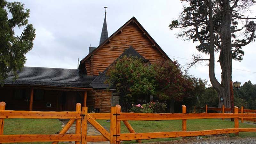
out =
[[[209,55],[202,59],[194,55],[190,66],[201,60],[209,61],[209,77],[225,107],[230,108],[230,86],[232,79],[232,59],[242,60],[242,47],[255,40],[255,17],[243,15],[256,2],[255,0],[181,0],[186,2],[177,20],[170,29],[181,28],[178,37],[199,42],[196,49]],[[219,52],[221,82],[215,77],[215,52]],[[220,101],[219,101],[220,106]]]

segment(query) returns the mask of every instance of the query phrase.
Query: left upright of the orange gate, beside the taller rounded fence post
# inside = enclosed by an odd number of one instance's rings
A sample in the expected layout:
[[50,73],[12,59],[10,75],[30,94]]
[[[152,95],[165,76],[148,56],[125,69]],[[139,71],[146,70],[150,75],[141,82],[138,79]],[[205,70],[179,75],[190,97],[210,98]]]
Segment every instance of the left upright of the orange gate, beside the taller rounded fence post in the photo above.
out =
[[88,107],[82,107],[82,143],[87,143],[87,111]]

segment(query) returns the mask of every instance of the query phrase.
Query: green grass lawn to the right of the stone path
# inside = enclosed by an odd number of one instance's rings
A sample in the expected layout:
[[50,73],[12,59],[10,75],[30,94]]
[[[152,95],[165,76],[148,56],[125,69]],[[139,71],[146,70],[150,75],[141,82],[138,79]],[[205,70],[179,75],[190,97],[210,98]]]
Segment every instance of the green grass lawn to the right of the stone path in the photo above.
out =
[[[110,123],[106,120],[98,120],[98,122],[109,129]],[[171,121],[129,121],[135,132],[172,132],[182,130],[181,120]],[[199,130],[211,130],[211,129],[223,129],[223,128],[234,128],[234,122],[222,119],[193,119],[187,120],[187,131],[199,131]],[[256,124],[239,123],[240,128],[256,127]],[[121,122],[121,133],[129,133],[124,123]],[[234,134],[229,134],[234,136]],[[254,132],[239,132],[240,137],[256,137]],[[178,138],[167,138],[167,139],[151,139],[142,140],[142,142],[151,141],[164,141],[164,140],[176,140]],[[135,143],[136,141],[124,141],[123,143]]]

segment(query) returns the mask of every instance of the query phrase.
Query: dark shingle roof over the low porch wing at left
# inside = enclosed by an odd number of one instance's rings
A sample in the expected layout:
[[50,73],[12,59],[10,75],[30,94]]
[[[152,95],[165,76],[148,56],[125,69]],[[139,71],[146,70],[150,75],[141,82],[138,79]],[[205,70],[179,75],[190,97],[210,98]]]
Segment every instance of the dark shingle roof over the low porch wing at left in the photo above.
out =
[[23,67],[17,74],[18,79],[13,81],[10,73],[4,84],[92,88],[89,84],[96,77],[79,69],[39,67]]

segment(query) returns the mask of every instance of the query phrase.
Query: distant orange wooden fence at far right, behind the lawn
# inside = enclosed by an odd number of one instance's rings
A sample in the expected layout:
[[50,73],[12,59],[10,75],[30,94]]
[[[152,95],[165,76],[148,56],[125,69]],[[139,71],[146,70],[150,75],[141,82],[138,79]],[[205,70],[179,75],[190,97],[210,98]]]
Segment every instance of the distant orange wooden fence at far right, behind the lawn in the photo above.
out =
[[[196,113],[196,109],[205,110],[206,113],[208,113],[208,110],[220,111],[221,113],[225,113],[225,112],[230,112],[231,111],[230,108],[225,108],[224,105],[222,106],[222,108],[207,107],[207,105],[205,105],[205,107],[196,107],[195,106],[194,107],[194,113]],[[256,113],[256,110],[254,110],[254,109],[244,109],[244,107],[242,106],[241,108],[238,109],[238,112],[239,113]],[[251,121],[251,122],[256,122],[256,118],[240,118],[240,119],[241,119],[242,123],[244,123],[244,120]]]

